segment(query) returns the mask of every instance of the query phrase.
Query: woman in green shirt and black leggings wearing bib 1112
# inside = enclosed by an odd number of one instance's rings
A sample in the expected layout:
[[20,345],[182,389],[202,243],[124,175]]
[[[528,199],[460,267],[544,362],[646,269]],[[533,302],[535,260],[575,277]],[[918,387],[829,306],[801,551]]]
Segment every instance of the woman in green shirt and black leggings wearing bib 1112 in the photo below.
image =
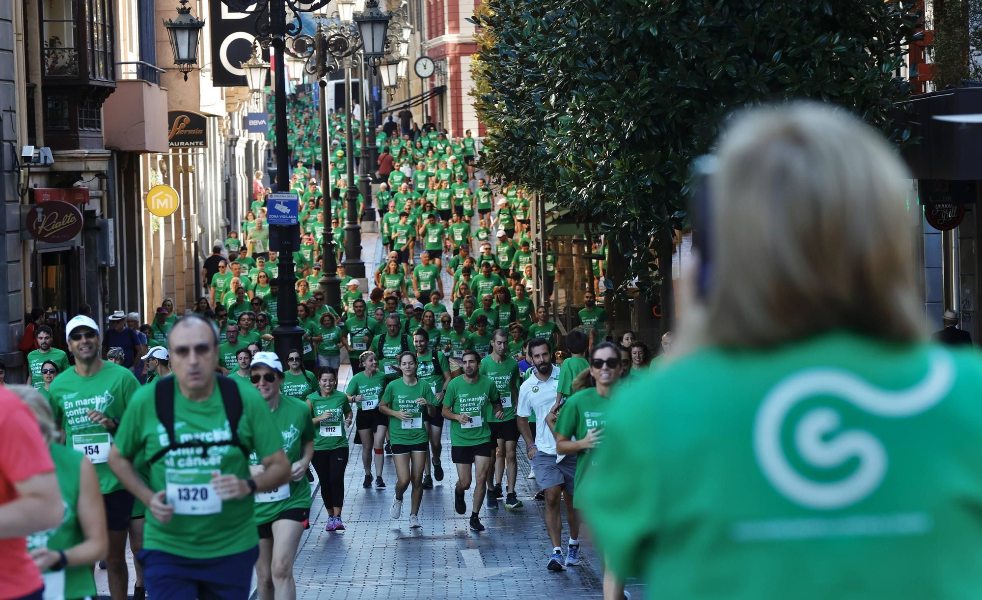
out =
[[326,531],[344,531],[341,509],[345,502],[345,469],[348,468],[348,428],[352,426],[352,404],[338,390],[338,372],[331,367],[317,370],[319,390],[307,396],[317,436],[313,444],[313,470],[320,480],[320,497],[327,509]]

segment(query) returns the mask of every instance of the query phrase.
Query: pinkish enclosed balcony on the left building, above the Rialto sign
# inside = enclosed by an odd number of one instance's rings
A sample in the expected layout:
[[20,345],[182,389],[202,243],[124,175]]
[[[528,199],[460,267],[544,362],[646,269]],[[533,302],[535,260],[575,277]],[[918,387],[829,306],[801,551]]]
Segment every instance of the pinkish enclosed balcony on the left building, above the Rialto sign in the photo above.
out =
[[[136,61],[117,63],[125,71],[103,104],[112,115],[103,126],[106,148],[131,152],[166,152],[167,90],[159,86],[163,69]],[[129,77],[130,79],[123,79]]]

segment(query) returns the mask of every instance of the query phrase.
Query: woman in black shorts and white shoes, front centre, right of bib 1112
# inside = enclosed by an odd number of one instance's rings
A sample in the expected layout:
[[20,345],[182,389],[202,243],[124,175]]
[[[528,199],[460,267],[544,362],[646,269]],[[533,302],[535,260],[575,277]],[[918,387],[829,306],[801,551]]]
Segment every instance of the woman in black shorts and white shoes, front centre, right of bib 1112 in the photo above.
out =
[[389,439],[392,441],[392,459],[396,464],[396,498],[389,514],[400,518],[403,514],[403,494],[412,483],[409,509],[409,527],[421,527],[419,505],[423,499],[423,468],[429,452],[429,436],[423,425],[423,411],[437,404],[429,384],[416,378],[418,366],[414,352],[399,355],[401,379],[389,382],[378,405],[379,411],[389,417]]

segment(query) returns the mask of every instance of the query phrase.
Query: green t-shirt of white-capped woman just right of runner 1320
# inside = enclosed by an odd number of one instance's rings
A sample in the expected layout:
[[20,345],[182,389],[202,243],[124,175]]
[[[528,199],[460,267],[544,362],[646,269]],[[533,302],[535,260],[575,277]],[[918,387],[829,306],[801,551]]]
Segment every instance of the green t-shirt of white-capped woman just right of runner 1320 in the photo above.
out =
[[[267,410],[269,404],[266,404]],[[313,423],[310,421],[310,407],[306,402],[289,395],[280,394],[280,404],[271,411],[273,427],[283,437],[283,451],[287,460],[293,464],[303,455],[303,445],[314,440]],[[262,464],[255,450],[248,457],[249,464]],[[310,508],[310,484],[306,478],[289,482],[270,492],[254,494],[255,522],[268,523],[276,520],[280,512],[290,509]]]

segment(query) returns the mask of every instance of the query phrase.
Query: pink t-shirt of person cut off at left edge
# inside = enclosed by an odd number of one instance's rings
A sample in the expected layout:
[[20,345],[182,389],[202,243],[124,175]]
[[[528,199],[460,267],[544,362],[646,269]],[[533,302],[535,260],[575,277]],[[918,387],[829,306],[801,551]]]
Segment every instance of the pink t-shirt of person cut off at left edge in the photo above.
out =
[[[11,391],[0,388],[0,505],[17,498],[15,484],[54,470],[33,413]],[[0,539],[0,599],[27,596],[41,585],[25,539]]]

